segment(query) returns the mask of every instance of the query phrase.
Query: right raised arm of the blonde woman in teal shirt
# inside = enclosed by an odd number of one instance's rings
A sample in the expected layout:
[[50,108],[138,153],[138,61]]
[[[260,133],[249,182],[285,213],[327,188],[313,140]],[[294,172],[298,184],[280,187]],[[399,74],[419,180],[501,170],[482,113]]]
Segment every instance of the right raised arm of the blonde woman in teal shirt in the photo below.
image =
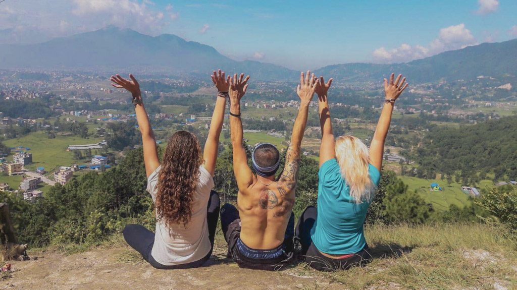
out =
[[391,115],[393,114],[393,106],[395,101],[399,98],[400,94],[407,88],[408,84],[405,84],[406,78],[402,78],[402,74],[397,76],[397,79],[393,81],[394,74],[392,73],[388,80],[384,79],[384,91],[385,100],[384,107],[381,112],[381,117],[377,123],[375,134],[373,135],[372,143],[370,144],[370,163],[375,166],[379,171],[383,165],[383,154],[384,154],[384,141],[388,135],[389,125],[391,123]]

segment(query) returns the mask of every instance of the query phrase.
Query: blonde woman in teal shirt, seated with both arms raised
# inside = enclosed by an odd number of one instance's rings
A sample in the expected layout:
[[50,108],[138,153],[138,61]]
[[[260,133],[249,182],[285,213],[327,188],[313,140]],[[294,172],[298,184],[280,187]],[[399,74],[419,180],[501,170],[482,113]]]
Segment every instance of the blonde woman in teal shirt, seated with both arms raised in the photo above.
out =
[[395,101],[407,88],[399,75],[384,79],[386,98],[370,149],[354,136],[334,140],[327,92],[332,83],[323,76],[316,89],[320,106],[322,143],[318,176],[317,211],[309,206],[300,216],[296,237],[301,253],[312,268],[347,269],[368,261],[363,223],[381,179],[384,141]]

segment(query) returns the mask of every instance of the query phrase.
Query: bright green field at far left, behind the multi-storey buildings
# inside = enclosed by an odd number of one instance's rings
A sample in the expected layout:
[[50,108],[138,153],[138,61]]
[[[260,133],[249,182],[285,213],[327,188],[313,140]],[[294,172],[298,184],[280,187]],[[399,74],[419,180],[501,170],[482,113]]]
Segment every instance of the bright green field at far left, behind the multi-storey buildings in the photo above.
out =
[[[102,141],[102,138],[81,138],[77,136],[59,136],[51,139],[44,132],[34,132],[29,135],[3,141],[8,147],[27,147],[33,154],[33,164],[26,169],[36,171],[37,167],[44,167],[51,172],[59,166],[70,166],[77,163],[72,152],[66,151],[69,145],[92,144]],[[12,155],[7,157],[12,161]]]

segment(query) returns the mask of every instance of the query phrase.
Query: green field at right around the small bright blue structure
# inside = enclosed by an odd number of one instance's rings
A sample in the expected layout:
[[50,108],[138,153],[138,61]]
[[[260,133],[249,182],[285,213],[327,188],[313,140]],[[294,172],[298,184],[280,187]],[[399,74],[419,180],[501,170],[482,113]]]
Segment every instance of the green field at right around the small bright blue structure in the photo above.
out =
[[[468,204],[469,196],[461,191],[461,184],[452,182],[450,184],[445,180],[441,179],[420,179],[409,176],[399,176],[399,178],[408,186],[408,190],[416,190],[420,194],[425,202],[433,204],[433,207],[437,211],[449,210],[450,204],[458,205],[463,207]],[[430,191],[431,183],[437,183],[442,187],[443,191]],[[492,181],[483,180],[480,182],[479,189],[488,188],[492,185]]]

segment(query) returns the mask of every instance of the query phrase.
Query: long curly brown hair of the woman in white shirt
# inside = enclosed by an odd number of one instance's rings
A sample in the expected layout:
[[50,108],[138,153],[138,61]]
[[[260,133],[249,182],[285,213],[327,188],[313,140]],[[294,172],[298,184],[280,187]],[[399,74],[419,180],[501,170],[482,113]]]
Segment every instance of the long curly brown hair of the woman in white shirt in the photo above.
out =
[[158,176],[156,213],[158,221],[187,227],[203,155],[194,134],[178,131],[172,135],[163,154]]

